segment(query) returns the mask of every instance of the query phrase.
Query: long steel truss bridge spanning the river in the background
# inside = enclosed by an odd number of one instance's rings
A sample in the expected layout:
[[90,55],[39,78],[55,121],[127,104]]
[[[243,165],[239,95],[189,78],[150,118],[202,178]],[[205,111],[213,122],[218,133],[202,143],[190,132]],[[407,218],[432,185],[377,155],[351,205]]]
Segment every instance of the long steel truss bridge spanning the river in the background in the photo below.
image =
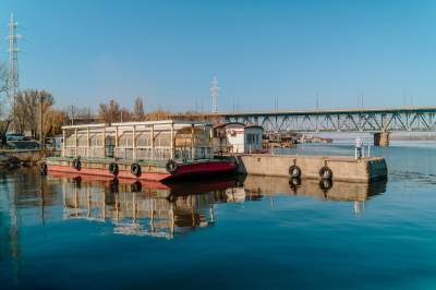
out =
[[217,113],[226,122],[262,125],[267,132],[370,132],[389,145],[389,132],[436,131],[436,107],[274,110]]

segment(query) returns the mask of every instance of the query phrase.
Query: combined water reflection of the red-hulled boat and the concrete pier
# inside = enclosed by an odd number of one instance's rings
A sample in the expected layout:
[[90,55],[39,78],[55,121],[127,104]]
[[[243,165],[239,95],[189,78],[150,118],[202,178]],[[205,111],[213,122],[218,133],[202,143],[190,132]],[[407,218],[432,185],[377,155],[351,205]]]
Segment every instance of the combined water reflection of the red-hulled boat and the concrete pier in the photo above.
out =
[[354,202],[354,212],[360,214],[366,200],[386,189],[386,181],[331,183],[254,176],[174,184],[65,173],[49,178],[62,183],[64,219],[112,222],[116,234],[167,239],[213,225],[214,204],[218,203],[242,203],[277,194],[307,195]]

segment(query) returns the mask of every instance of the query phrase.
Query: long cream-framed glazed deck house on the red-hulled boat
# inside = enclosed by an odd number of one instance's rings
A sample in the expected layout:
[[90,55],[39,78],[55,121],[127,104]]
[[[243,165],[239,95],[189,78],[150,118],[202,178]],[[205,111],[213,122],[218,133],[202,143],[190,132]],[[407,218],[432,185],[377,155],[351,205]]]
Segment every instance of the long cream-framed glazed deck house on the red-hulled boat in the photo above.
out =
[[132,160],[213,158],[211,123],[150,121],[62,128],[62,157]]

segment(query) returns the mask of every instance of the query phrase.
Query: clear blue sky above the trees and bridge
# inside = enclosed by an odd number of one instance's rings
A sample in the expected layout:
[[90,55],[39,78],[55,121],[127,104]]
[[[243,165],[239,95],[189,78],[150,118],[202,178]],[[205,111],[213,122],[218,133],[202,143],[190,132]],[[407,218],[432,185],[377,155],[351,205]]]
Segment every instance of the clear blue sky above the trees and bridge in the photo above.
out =
[[21,87],[59,107],[210,110],[214,75],[221,111],[436,105],[432,0],[1,0],[1,39],[11,12]]

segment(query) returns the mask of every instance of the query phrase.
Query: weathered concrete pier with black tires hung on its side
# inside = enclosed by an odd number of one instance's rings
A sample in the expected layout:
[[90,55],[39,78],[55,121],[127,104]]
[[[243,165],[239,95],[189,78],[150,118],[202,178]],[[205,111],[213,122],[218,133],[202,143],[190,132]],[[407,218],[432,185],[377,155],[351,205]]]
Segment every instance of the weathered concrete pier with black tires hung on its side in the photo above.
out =
[[331,180],[372,182],[387,178],[386,161],[382,157],[355,159],[347,156],[301,156],[301,155],[239,155],[238,170],[244,174],[287,177],[290,167],[301,170],[302,179],[320,179],[320,169],[331,170]]

